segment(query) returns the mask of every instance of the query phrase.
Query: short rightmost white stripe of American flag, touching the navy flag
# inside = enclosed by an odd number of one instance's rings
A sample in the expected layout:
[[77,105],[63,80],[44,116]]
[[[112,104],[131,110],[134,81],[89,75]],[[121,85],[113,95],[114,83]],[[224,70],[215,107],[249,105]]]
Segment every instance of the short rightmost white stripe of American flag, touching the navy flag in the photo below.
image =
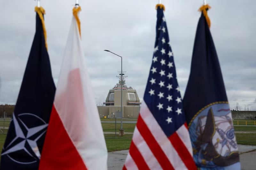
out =
[[178,134],[178,136],[180,137],[180,139],[182,140],[182,142],[184,143],[184,145],[188,148],[188,152],[190,153],[191,157],[193,157],[193,153],[192,153],[192,145],[190,142],[190,138],[189,138],[189,132],[188,129],[186,128],[185,125],[182,125],[177,131],[176,133]]

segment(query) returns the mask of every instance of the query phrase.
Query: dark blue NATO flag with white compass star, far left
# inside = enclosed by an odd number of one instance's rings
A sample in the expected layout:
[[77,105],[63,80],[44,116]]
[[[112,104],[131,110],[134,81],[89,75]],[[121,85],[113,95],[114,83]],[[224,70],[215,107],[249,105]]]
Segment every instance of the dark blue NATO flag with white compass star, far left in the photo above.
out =
[[43,25],[36,13],[36,34],[1,154],[1,170],[38,169],[54,94]]

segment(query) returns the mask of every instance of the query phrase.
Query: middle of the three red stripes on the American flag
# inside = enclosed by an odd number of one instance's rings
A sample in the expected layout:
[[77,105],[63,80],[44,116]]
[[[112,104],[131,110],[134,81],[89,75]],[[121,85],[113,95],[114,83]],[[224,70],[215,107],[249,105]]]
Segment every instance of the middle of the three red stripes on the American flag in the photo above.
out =
[[144,138],[148,147],[158,160],[159,164],[163,169],[174,169],[168,158],[166,157],[165,153],[157,143],[156,139],[148,129],[148,126],[145,124],[141,116],[139,115],[137,121],[137,128],[140,131],[141,136]]

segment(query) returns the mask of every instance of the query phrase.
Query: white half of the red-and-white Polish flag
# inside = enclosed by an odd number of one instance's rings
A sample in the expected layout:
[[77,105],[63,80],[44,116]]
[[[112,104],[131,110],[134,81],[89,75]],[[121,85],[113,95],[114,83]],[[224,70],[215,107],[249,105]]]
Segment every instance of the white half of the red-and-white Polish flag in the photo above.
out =
[[54,105],[86,167],[107,169],[107,147],[74,17],[68,34]]

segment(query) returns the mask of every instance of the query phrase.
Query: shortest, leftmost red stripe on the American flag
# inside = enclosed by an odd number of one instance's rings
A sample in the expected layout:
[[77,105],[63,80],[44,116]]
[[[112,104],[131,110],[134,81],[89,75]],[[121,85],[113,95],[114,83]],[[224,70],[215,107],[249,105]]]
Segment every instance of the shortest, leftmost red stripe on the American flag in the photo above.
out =
[[135,146],[133,141],[131,142],[129,153],[139,169],[145,169],[145,170],[149,169],[145,159],[142,157],[142,155],[140,154],[138,148]]

